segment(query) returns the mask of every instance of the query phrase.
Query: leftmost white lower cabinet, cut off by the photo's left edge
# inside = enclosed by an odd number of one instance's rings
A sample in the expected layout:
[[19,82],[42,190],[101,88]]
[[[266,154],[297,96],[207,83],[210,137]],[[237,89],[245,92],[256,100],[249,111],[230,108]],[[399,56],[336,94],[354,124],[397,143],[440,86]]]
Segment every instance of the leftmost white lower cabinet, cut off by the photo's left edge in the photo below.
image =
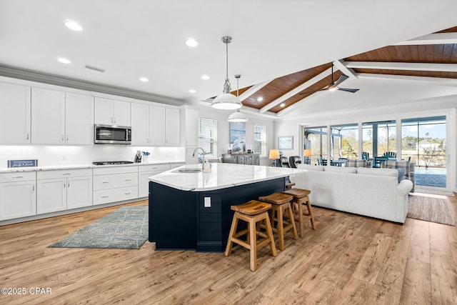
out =
[[0,174],[0,220],[36,215],[36,172]]

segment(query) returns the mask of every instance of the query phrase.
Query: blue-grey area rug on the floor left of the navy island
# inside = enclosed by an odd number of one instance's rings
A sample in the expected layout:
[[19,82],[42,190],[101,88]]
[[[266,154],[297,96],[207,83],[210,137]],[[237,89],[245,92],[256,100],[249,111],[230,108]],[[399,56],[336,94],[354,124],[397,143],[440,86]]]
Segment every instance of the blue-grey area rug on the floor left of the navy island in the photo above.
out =
[[123,206],[50,248],[139,249],[148,239],[148,206]]

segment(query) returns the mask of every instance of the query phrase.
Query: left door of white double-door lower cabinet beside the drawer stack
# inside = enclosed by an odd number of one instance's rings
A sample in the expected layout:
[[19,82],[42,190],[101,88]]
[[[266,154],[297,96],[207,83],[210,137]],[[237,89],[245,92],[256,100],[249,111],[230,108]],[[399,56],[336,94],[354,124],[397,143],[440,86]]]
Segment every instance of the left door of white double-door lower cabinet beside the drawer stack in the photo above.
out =
[[66,178],[36,181],[36,214],[66,210]]

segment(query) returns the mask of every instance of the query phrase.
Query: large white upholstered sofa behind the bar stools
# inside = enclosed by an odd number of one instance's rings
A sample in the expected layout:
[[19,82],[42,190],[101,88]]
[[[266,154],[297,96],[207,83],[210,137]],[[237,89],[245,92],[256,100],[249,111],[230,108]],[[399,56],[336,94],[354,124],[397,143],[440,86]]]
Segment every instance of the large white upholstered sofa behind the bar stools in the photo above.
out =
[[[291,176],[295,188],[311,190],[313,206],[346,211],[403,224],[408,214],[408,193],[413,183],[398,182],[396,169],[314,166]],[[402,178],[402,177],[401,177]]]

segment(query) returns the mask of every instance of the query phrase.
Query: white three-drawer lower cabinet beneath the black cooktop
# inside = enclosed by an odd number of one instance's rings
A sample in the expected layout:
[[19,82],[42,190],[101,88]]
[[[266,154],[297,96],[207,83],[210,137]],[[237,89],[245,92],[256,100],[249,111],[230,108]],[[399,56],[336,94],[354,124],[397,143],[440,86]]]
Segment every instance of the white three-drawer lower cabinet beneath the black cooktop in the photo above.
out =
[[138,166],[94,169],[94,205],[138,198]]

